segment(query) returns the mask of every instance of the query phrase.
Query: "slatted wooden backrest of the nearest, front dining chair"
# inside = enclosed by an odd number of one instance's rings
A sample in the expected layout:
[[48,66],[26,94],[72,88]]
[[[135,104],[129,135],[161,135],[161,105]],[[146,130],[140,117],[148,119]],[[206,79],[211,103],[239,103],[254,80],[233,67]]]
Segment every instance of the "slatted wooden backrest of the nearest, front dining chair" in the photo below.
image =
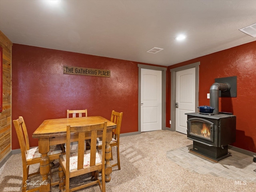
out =
[[[97,151],[97,133],[98,131],[103,131],[102,133],[102,154],[100,155],[101,161],[103,163],[96,164],[96,151]],[[88,173],[96,170],[102,169],[102,174],[105,175],[105,146],[106,146],[106,131],[107,131],[107,122],[96,124],[96,125],[87,125],[73,127],[67,126],[67,147],[66,147],[66,177],[70,177],[70,137],[74,134],[77,134],[78,137],[75,141],[78,141],[78,147],[72,149],[72,152],[78,152],[78,163],[77,170],[79,172]],[[84,141],[86,137],[90,136],[90,164],[84,167]],[[104,145],[104,146],[103,146]],[[77,151],[76,151],[77,150]],[[72,174],[74,170],[72,171]]]

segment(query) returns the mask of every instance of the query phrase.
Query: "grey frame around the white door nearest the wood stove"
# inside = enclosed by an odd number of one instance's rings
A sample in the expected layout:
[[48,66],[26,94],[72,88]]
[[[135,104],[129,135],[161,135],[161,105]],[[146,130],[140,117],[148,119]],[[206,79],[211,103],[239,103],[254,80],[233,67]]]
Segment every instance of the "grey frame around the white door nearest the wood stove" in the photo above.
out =
[[199,65],[200,61],[196,63],[192,63],[189,65],[184,65],[181,67],[176,67],[173,69],[170,69],[171,72],[171,129],[170,131],[176,131],[176,108],[175,108],[175,102],[176,102],[176,72],[177,71],[182,71],[185,69],[190,69],[190,68],[196,68],[196,86],[195,86],[195,111],[197,111],[198,103],[199,103]]

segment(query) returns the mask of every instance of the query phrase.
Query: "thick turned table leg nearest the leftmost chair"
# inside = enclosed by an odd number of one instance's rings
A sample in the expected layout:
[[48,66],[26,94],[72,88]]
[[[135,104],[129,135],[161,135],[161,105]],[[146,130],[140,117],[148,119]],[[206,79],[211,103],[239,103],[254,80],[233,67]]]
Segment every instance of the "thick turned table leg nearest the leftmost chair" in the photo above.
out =
[[42,138],[38,141],[39,152],[42,154],[40,159],[40,174],[42,176],[42,183],[40,186],[40,192],[49,192],[50,191],[50,178],[48,174],[50,172],[50,158],[48,157],[48,152],[50,150],[49,138]]

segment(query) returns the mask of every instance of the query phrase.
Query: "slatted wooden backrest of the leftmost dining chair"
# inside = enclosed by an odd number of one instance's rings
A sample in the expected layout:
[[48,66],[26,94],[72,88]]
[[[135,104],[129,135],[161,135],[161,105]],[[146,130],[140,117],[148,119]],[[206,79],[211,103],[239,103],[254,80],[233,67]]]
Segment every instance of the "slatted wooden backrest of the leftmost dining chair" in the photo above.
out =
[[18,119],[13,120],[13,124],[18,136],[18,140],[20,143],[20,150],[22,154],[22,162],[26,162],[26,153],[29,150],[29,140],[28,140],[28,132],[22,116]]

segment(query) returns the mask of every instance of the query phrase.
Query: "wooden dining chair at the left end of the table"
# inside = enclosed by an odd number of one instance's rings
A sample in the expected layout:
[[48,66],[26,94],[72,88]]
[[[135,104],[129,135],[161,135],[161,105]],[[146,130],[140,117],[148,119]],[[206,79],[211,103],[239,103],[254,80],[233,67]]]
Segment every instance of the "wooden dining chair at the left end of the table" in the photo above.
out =
[[[20,143],[21,157],[22,157],[22,169],[23,169],[23,179],[22,179],[22,192],[32,192],[39,190],[39,187],[33,188],[30,190],[26,189],[26,180],[30,176],[39,174],[40,172],[34,172],[29,174],[29,166],[32,164],[40,163],[41,154],[39,153],[38,147],[30,148],[28,140],[28,132],[22,116],[18,119],[13,120],[13,124],[18,136]],[[50,151],[48,156],[50,161],[56,160],[59,158],[62,150],[58,145],[50,146]],[[59,182],[51,183],[51,186],[58,184]]]

